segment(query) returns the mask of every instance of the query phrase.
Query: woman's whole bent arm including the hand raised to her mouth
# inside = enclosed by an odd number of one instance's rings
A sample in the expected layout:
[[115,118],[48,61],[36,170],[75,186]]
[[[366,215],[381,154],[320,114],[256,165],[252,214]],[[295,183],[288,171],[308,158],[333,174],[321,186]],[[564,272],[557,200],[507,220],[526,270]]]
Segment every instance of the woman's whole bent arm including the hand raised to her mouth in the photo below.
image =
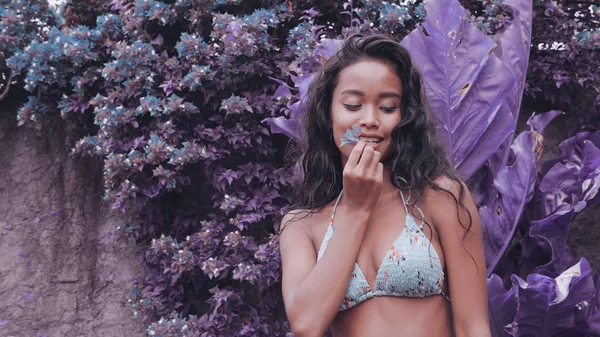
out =
[[292,221],[285,226],[289,214],[282,220],[283,301],[296,336],[323,336],[342,304],[367,222],[381,193],[380,158],[381,153],[363,140],[352,149],[342,172],[344,192],[333,224],[335,233],[319,262],[306,222]]

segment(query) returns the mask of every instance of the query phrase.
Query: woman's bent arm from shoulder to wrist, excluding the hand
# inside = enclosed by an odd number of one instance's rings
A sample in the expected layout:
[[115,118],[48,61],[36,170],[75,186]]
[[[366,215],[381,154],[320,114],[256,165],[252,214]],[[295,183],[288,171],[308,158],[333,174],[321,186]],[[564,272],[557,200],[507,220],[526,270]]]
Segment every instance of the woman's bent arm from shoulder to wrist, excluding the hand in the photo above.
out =
[[[282,220],[285,225],[294,215]],[[354,270],[369,213],[347,209],[335,216],[335,233],[317,262],[306,219],[291,221],[281,233],[282,292],[296,337],[322,337],[338,313]]]

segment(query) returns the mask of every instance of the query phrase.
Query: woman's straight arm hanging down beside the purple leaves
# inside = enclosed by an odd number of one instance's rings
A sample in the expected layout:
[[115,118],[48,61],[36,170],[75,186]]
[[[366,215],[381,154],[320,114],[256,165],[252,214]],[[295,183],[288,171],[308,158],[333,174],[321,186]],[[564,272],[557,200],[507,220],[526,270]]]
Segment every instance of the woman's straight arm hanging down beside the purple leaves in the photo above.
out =
[[[462,182],[459,185],[447,177],[438,178],[436,182],[452,192],[457,200],[460,200],[462,185],[462,203],[469,210],[467,213],[460,205],[457,210],[454,198],[448,193],[430,188],[425,193],[428,195],[427,202],[432,205],[428,210],[439,233],[446,261],[454,331],[457,337],[491,336],[479,213],[469,190]],[[469,223],[471,228],[465,235]]]

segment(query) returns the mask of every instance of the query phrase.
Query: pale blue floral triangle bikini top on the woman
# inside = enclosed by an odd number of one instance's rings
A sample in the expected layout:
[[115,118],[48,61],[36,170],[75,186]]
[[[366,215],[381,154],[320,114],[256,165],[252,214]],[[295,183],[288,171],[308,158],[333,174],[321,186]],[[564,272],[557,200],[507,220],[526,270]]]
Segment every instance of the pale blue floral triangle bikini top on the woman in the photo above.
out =
[[[341,196],[342,192],[340,192],[335,206],[333,206],[329,226],[319,249],[317,261],[325,253],[333,236],[333,218]],[[435,248],[422,231],[423,222],[417,225],[415,219],[408,213],[402,192],[400,192],[400,196],[406,211],[405,226],[379,267],[375,279],[376,289],[374,291],[371,289],[358,263],[355,262],[344,302],[338,311],[352,308],[375,296],[425,297],[442,295],[447,301],[450,301],[450,298],[442,291],[444,271]],[[410,192],[408,200],[410,201]],[[416,208],[423,214],[418,207]]]

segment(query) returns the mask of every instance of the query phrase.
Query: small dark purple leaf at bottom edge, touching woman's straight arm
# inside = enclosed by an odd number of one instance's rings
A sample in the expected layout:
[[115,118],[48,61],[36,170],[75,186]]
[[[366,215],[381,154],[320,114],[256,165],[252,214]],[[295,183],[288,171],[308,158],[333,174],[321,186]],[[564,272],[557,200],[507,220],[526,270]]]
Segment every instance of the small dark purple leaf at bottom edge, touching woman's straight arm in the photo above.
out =
[[517,313],[516,288],[513,285],[506,290],[502,279],[496,274],[488,278],[487,288],[492,337],[509,337],[504,327],[514,321]]

